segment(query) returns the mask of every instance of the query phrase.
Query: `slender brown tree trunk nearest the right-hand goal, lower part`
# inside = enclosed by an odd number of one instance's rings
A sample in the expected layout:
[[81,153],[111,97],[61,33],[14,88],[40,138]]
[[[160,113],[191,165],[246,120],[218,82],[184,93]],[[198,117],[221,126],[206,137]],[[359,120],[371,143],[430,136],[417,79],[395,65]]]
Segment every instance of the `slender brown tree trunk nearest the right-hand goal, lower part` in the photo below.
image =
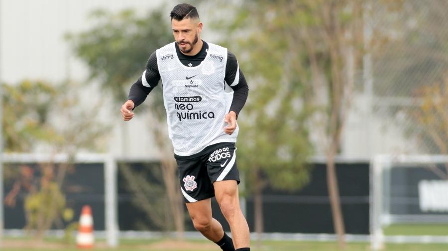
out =
[[339,200],[339,189],[337,187],[336,167],[335,167],[336,145],[332,143],[327,155],[327,184],[332,207],[333,225],[337,235],[337,242],[340,249],[345,249],[345,228],[342,217],[342,210]]

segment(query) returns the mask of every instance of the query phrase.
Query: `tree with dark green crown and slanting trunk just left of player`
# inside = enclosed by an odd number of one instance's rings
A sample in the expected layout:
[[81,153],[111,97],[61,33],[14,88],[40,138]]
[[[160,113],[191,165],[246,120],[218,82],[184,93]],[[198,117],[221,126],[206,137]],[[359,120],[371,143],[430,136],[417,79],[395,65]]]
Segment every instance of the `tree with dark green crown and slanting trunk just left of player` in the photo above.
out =
[[[137,17],[132,10],[118,13],[97,10],[92,17],[97,22],[93,28],[79,34],[68,34],[67,38],[75,54],[87,63],[90,78],[99,80],[102,88],[112,94],[114,104],[121,105],[127,98],[130,84],[141,76],[150,54],[173,41],[168,15],[162,14],[161,10],[143,17]],[[168,219],[174,219],[178,237],[182,237],[183,200],[176,175],[177,165],[168,139],[162,90],[157,87],[152,92],[149,100],[136,112],[145,112],[152,119],[150,130],[159,148],[160,168],[169,201],[165,211],[170,212]],[[118,110],[113,109],[117,114]],[[133,184],[133,189],[146,187],[145,184],[135,187],[137,185]]]

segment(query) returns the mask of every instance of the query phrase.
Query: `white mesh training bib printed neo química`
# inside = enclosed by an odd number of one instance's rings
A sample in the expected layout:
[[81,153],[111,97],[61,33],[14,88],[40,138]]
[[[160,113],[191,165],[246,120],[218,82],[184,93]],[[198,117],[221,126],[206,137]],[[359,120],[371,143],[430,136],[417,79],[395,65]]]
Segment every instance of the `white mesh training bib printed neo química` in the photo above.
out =
[[220,142],[236,142],[238,126],[228,135],[224,116],[233,90],[224,88],[227,49],[208,43],[205,60],[185,66],[176,54],[175,42],[156,51],[163,84],[163,102],[174,153],[189,156]]

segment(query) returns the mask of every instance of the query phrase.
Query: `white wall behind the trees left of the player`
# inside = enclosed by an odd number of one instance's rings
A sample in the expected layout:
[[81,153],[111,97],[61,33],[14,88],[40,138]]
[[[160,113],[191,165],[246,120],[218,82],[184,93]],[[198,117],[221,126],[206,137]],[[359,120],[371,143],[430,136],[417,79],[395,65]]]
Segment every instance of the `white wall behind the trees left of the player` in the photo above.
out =
[[[0,78],[7,83],[23,79],[42,79],[54,83],[68,77],[85,81],[87,67],[71,53],[63,36],[66,32],[89,29],[92,20],[88,13],[97,8],[118,11],[134,8],[145,13],[166,3],[162,0],[0,0]],[[172,4],[167,4],[172,5]],[[168,12],[167,12],[168,18]],[[144,65],[142,65],[142,71]],[[129,83],[129,87],[132,83]],[[104,95],[96,83],[88,83],[86,100]],[[110,105],[89,107],[93,116],[100,116],[114,125],[107,151],[117,156],[156,157],[154,143],[146,128],[145,116],[125,123]],[[125,135],[120,125],[124,125]],[[123,140],[126,137],[127,140]],[[123,145],[123,142],[128,142]]]

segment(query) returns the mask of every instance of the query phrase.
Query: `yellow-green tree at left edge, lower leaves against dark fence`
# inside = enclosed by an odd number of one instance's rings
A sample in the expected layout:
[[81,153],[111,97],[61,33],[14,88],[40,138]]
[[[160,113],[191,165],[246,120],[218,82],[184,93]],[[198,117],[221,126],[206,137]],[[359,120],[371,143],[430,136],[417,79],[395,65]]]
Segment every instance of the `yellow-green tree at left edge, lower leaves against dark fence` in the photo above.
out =
[[[5,151],[33,152],[37,146],[52,154],[73,155],[80,149],[100,150],[105,126],[78,109],[79,91],[75,83],[52,85],[45,81],[24,80],[16,85],[3,84],[3,135]],[[58,121],[59,120],[59,121]],[[65,123],[62,123],[64,122]],[[95,138],[95,141],[92,141]],[[5,196],[6,206],[15,206],[21,189],[25,190],[24,210],[28,233],[43,239],[53,225],[70,221],[73,211],[66,207],[62,185],[72,163],[38,163],[40,177],[28,165],[14,168],[15,182]]]

